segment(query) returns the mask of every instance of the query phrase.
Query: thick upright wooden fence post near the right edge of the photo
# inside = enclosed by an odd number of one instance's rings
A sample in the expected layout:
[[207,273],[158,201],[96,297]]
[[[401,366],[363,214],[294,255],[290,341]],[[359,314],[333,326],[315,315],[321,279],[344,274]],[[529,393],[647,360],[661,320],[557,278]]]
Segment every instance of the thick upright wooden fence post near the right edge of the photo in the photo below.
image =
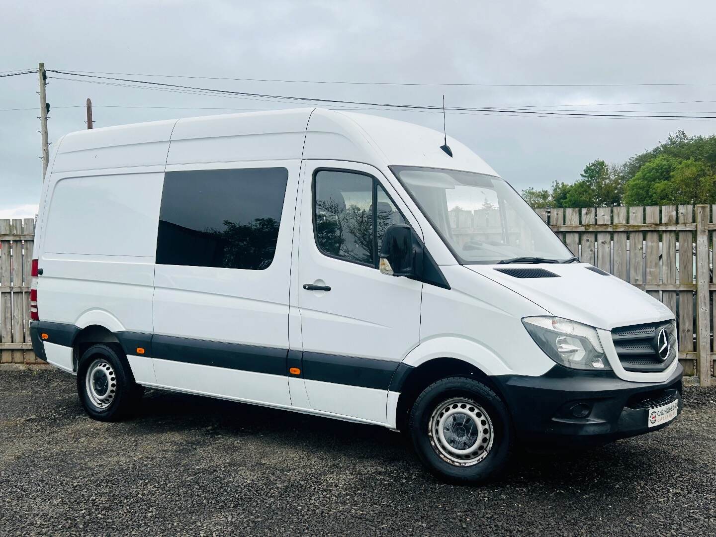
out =
[[696,352],[699,383],[702,386],[711,384],[708,223],[709,206],[696,205]]

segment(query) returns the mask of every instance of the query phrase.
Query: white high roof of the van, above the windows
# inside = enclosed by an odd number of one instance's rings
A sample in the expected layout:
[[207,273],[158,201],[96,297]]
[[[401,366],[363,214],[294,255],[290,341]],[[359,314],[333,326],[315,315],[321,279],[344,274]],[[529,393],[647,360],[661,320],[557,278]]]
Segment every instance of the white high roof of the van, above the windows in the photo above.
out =
[[[207,144],[206,140],[213,140]],[[53,173],[147,165],[326,159],[497,175],[442,132],[367,114],[298,108],[188,117],[72,132],[57,143]]]

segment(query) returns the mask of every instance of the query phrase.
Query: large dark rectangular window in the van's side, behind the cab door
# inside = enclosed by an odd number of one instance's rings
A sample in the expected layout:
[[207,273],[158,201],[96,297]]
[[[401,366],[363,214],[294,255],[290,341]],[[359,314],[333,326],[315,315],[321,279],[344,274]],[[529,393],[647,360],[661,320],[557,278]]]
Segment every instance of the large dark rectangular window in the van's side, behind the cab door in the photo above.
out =
[[274,260],[288,179],[286,168],[166,173],[157,263],[268,268]]

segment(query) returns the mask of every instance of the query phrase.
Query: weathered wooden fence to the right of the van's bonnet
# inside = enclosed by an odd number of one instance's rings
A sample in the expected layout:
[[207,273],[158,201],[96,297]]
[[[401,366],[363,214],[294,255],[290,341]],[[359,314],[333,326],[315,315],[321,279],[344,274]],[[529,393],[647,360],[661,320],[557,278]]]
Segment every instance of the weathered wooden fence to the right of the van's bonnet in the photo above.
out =
[[[716,205],[536,209],[575,256],[666,304],[679,360],[702,386],[716,384]],[[685,254],[685,255],[684,255]]]

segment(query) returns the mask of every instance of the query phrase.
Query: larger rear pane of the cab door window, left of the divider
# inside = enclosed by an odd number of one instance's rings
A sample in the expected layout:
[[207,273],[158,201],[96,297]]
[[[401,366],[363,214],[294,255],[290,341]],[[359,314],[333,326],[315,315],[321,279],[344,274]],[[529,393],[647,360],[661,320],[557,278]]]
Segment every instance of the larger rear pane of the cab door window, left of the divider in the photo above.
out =
[[323,170],[314,184],[316,239],[324,253],[374,264],[373,178]]

